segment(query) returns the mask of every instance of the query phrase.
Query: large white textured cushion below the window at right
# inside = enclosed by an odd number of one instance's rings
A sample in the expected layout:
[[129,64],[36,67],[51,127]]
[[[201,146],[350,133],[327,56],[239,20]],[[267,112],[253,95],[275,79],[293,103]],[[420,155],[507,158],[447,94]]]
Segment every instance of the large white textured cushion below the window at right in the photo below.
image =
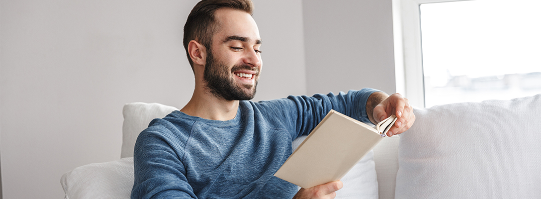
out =
[[415,109],[395,198],[541,198],[541,94]]

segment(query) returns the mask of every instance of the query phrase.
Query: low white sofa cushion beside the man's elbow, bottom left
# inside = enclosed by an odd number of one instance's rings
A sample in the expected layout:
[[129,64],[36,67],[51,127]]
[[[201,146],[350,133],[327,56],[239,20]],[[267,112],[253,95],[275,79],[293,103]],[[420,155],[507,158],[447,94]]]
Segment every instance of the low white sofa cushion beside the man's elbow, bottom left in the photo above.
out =
[[65,173],[60,183],[67,199],[130,198],[133,157],[87,164]]

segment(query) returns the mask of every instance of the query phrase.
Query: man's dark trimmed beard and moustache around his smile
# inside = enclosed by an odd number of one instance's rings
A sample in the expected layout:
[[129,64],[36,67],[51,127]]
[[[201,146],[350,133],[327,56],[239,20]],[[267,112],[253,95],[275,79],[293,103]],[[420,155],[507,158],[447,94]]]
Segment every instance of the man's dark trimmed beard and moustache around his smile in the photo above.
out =
[[[227,70],[226,64],[216,62],[212,53],[209,52],[207,56],[207,63],[205,64],[203,72],[203,81],[207,83],[207,88],[216,97],[223,98],[224,100],[252,100],[255,96],[255,90],[258,87],[259,75],[258,68],[250,67],[247,64],[235,65],[231,71]],[[243,89],[235,84],[234,77],[231,77],[233,71],[237,70],[255,70],[253,78],[254,85],[242,85],[244,88],[251,89],[249,92],[244,92]]]

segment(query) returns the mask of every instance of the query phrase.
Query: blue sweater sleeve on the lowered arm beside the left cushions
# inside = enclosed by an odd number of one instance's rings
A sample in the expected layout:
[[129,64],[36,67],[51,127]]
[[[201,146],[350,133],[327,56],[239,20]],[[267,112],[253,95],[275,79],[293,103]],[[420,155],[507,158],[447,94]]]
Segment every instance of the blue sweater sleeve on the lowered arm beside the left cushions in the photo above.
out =
[[[154,121],[153,121],[154,122]],[[131,198],[197,198],[177,148],[188,138],[168,137],[168,128],[148,128],[137,137]]]

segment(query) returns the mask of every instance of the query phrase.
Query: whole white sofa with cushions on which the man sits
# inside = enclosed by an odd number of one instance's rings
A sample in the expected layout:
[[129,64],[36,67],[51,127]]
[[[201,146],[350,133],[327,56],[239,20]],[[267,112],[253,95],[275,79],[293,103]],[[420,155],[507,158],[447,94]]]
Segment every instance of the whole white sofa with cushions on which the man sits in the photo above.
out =
[[[129,198],[136,137],[173,110],[124,105],[122,158],[65,173],[66,198]],[[541,198],[541,94],[415,109],[415,115],[410,130],[385,138],[342,178],[337,198]]]

